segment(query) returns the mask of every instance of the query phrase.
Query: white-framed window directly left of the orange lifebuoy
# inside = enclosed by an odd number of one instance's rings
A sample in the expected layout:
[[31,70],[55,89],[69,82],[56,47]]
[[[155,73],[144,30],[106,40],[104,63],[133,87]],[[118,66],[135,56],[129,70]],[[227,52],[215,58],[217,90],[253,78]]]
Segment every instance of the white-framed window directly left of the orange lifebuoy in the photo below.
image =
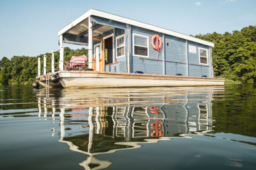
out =
[[133,54],[137,57],[149,57],[147,36],[133,34]]

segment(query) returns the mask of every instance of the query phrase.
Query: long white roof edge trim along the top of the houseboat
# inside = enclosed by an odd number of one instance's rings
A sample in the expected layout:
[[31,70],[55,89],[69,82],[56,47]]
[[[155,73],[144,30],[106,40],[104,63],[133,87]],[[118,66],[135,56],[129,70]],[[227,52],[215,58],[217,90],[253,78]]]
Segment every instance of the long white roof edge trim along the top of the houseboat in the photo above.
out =
[[107,18],[109,20],[115,20],[115,21],[118,21],[118,22],[121,22],[121,23],[127,23],[127,24],[130,24],[130,25],[133,25],[133,26],[138,26],[138,27],[141,27],[141,28],[154,30],[154,31],[161,32],[161,33],[164,33],[164,34],[168,34],[168,35],[172,35],[172,36],[175,36],[175,37],[183,38],[185,40],[198,42],[200,44],[204,44],[204,45],[214,47],[213,42],[201,40],[199,38],[191,37],[189,35],[181,34],[181,33],[171,31],[171,30],[168,30],[168,29],[164,29],[164,28],[160,28],[160,27],[153,26],[153,25],[150,25],[150,24],[142,23],[142,22],[139,22],[139,21],[136,21],[136,20],[131,20],[129,18],[120,17],[118,15],[114,15],[114,14],[110,14],[110,13],[107,13],[107,12],[99,11],[99,10],[96,10],[96,9],[93,9],[93,8],[91,8],[89,11],[82,14],[80,17],[78,17],[76,20],[72,21],[70,24],[68,24],[67,26],[62,28],[60,31],[58,31],[58,35],[60,36],[61,34],[64,34],[66,31],[70,30],[71,28],[73,28],[77,24],[81,23],[83,20],[86,20],[86,18],[89,17],[90,15],[94,15],[94,16],[102,17],[102,18]]

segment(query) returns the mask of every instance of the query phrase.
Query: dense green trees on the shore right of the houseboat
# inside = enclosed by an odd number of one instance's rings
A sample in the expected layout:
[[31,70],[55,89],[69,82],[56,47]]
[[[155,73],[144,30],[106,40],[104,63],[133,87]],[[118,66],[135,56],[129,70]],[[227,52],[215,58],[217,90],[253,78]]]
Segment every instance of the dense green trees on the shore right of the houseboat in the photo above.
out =
[[212,48],[212,66],[215,77],[224,77],[242,83],[256,83],[256,26],[233,33],[216,32],[196,35],[215,43]]

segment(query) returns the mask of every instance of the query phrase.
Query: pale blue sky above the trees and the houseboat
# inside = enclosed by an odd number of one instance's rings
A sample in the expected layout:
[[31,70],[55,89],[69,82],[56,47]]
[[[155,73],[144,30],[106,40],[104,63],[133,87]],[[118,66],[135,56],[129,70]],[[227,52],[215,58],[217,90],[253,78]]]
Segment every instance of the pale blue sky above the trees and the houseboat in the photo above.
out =
[[57,51],[58,31],[90,8],[187,35],[256,25],[256,0],[0,0],[0,58]]

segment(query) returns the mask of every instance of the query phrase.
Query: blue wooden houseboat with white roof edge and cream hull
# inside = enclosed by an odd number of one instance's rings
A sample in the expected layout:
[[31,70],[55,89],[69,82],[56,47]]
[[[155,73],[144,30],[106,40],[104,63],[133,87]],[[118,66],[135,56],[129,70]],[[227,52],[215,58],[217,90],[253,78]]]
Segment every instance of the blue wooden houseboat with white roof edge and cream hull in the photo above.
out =
[[[53,63],[52,72],[47,73],[44,65],[40,75],[38,60],[37,80],[44,87],[224,85],[212,69],[214,43],[175,31],[92,8],[58,36],[59,70]],[[70,70],[64,61],[64,43],[88,46],[86,69]]]

